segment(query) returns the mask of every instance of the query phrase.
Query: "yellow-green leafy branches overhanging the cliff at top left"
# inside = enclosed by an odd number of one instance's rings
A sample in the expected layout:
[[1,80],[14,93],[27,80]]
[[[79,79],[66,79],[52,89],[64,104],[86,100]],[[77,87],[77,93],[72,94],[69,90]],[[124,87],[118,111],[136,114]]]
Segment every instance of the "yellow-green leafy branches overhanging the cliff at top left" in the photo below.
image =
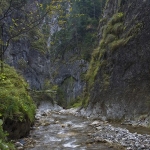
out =
[[[42,11],[42,12],[41,12]],[[20,40],[22,36],[27,36],[28,32],[42,28],[39,25],[43,22],[50,9],[43,9],[43,5],[38,1],[28,0],[1,0],[0,2],[0,60],[4,61],[4,53],[11,41]],[[36,34],[39,34],[36,31]],[[4,36],[5,35],[5,36]],[[31,47],[40,52],[46,51],[46,40],[44,35],[38,35],[30,39]],[[3,63],[1,72],[4,72]]]

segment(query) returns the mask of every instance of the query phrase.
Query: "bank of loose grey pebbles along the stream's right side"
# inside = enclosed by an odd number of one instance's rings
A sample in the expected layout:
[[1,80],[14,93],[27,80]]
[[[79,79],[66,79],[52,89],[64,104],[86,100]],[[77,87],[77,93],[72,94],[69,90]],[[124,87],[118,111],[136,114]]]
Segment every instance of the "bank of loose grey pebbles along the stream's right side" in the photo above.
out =
[[[65,113],[65,110],[63,111]],[[81,117],[82,115],[67,110],[67,113],[76,114]],[[127,121],[124,124],[130,124]],[[133,123],[131,123],[133,125]],[[125,147],[127,150],[150,150],[150,135],[130,133],[129,130],[120,127],[113,127],[108,122],[101,122],[95,120],[90,126],[93,126],[96,130],[94,134],[90,134],[93,139],[90,139],[86,143],[91,144],[93,142],[107,142],[109,144],[117,144]]]

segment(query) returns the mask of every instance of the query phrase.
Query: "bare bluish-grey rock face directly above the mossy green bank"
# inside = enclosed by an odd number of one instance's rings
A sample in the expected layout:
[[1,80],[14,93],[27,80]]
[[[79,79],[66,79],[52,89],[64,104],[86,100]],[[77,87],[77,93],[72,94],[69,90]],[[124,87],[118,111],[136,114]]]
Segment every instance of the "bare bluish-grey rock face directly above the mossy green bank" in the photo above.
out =
[[35,50],[29,43],[26,38],[12,42],[5,53],[5,61],[20,70],[31,89],[42,89],[44,81],[50,78],[49,56]]

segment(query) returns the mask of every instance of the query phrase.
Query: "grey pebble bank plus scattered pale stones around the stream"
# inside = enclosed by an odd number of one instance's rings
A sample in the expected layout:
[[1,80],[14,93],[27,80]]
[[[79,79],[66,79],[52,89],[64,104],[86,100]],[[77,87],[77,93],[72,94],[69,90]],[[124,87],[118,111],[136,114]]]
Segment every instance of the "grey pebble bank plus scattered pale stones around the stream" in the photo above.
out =
[[[58,112],[61,114],[73,114],[75,116],[82,117],[75,109],[69,110],[61,110]],[[51,113],[42,112],[42,114],[37,114],[36,118],[39,119],[41,117],[45,117],[50,115]],[[46,118],[46,117],[45,117]],[[88,119],[90,122],[89,125],[92,126],[95,130],[94,133],[87,133],[90,137],[86,142],[86,144],[91,145],[92,143],[100,142],[100,143],[109,143],[110,145],[116,144],[125,147],[127,150],[150,150],[150,135],[147,134],[137,134],[130,133],[129,130],[123,129],[120,127],[113,127],[107,121],[90,121],[92,118]],[[49,125],[49,122],[41,122],[44,126]],[[60,124],[58,120],[54,121],[55,124]],[[126,123],[130,123],[127,121]],[[125,124],[126,124],[125,123]],[[132,123],[133,124],[133,123]],[[60,124],[62,128],[70,127],[72,124]],[[32,147],[33,142],[30,144]],[[18,150],[22,150],[23,144],[20,142],[15,143]]]

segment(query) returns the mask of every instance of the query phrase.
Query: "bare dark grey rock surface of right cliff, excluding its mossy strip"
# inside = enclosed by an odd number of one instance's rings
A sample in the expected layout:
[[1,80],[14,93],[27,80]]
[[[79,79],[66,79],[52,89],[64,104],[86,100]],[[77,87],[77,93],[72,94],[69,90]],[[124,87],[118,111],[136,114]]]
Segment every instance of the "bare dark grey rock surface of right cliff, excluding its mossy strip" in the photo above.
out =
[[[88,91],[90,92],[88,116],[99,114],[108,120],[137,121],[142,115],[149,114],[149,8],[150,1],[121,1],[120,7],[118,1],[108,1],[104,18],[110,20],[113,14],[121,12],[124,15],[124,30],[119,34],[119,39],[127,33],[132,35],[132,38],[113,52],[109,46],[107,47],[105,56],[100,60],[106,61],[107,65],[99,68],[94,85]],[[100,40],[102,34],[100,30]],[[107,88],[104,87],[104,76],[108,79]]]

